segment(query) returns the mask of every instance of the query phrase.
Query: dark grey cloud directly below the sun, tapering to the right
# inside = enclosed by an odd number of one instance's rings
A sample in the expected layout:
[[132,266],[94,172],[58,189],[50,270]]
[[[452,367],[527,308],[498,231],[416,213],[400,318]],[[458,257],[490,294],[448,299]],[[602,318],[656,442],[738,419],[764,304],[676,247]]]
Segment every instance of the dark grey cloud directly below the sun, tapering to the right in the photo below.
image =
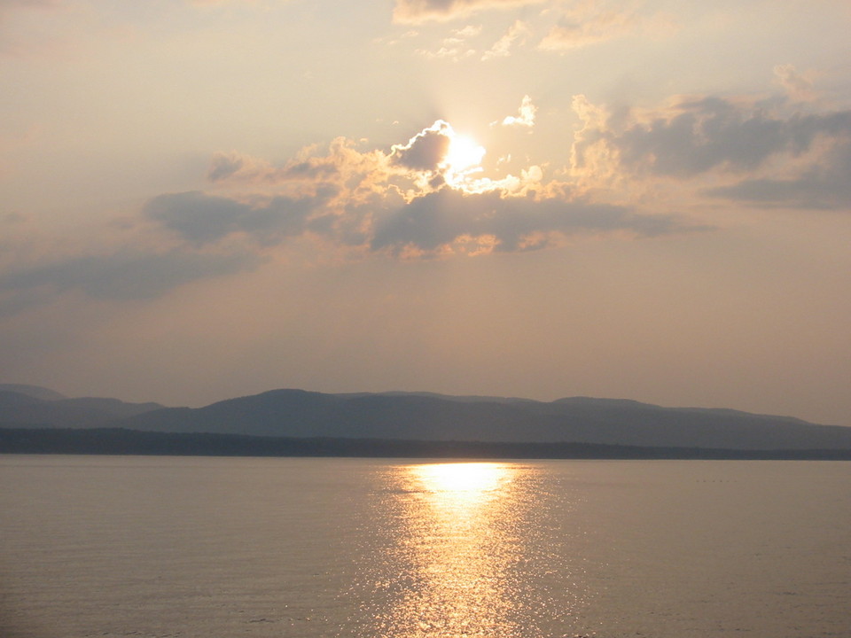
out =
[[373,250],[413,247],[433,253],[464,237],[492,237],[497,251],[541,248],[551,233],[628,230],[661,235],[685,230],[673,217],[636,215],[622,206],[558,199],[504,198],[496,191],[464,194],[442,189],[414,199],[376,225]]

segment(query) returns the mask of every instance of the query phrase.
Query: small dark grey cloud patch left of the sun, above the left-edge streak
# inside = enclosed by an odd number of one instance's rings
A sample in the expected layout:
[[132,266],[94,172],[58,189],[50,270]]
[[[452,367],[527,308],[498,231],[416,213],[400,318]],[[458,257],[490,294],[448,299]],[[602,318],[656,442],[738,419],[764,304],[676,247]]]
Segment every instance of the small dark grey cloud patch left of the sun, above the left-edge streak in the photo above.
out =
[[200,191],[170,193],[151,199],[144,214],[196,245],[215,243],[243,233],[262,245],[301,235],[308,217],[332,197],[330,188],[304,198],[275,197],[257,204],[207,195]]

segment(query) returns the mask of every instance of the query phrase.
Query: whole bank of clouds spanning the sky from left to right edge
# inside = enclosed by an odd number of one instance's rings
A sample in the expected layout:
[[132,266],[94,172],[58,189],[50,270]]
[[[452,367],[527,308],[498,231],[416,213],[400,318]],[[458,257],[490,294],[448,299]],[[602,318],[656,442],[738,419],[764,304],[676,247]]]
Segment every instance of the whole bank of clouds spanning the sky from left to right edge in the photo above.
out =
[[[790,68],[779,76],[807,89]],[[459,159],[457,144],[470,141],[441,120],[386,150],[338,138],[277,166],[239,152],[215,153],[207,191],[163,193],[141,207],[144,241],[113,240],[112,252],[6,268],[0,303],[14,312],[72,291],[151,299],[192,281],[259,268],[304,239],[354,259],[421,259],[538,250],[582,235],[707,229],[670,210],[614,197],[605,187],[611,175],[693,183],[694,198],[749,206],[851,209],[851,111],[712,96],[614,112],[577,96],[574,111],[582,127],[568,170],[550,170],[546,178],[535,165],[519,175],[484,175],[480,154]],[[531,98],[495,124],[532,128]]]

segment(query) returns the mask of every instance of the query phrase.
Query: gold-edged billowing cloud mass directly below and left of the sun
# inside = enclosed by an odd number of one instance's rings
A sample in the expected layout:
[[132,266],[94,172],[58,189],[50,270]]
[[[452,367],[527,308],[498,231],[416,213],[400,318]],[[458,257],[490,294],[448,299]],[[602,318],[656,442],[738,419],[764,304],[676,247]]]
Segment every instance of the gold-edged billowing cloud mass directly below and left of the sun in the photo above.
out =
[[[504,123],[531,126],[534,113],[524,97],[519,115]],[[314,154],[301,153],[284,167],[219,154],[211,177],[242,190],[160,195],[144,206],[144,214],[195,249],[239,238],[268,249],[288,237],[312,235],[407,257],[524,251],[580,232],[652,236],[691,230],[671,216],[575,198],[565,184],[543,183],[539,167],[501,179],[477,175],[477,167],[453,167],[454,143],[463,141],[449,122],[438,120],[388,152],[362,153],[338,142],[328,154],[312,149]],[[293,182],[300,187],[297,195],[245,191],[246,186],[287,191]]]

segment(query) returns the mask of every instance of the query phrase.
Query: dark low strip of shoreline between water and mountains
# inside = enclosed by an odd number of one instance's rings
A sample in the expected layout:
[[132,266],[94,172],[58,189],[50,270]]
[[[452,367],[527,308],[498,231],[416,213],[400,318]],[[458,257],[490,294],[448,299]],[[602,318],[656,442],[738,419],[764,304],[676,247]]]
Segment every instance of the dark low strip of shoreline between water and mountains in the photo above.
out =
[[570,442],[285,438],[124,428],[29,427],[0,428],[0,454],[851,461],[851,449],[740,450]]

